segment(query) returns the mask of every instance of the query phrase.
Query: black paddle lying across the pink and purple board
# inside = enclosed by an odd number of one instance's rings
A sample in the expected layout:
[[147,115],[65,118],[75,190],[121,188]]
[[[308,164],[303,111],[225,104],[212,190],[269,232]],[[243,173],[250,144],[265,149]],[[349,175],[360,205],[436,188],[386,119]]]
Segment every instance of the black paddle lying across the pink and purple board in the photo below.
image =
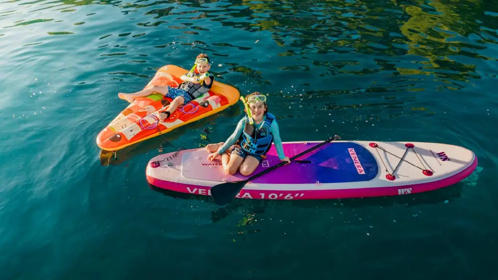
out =
[[[292,158],[290,158],[290,160],[293,161],[304,154],[307,154],[315,149],[322,147],[323,145],[325,145],[327,143],[330,143],[330,142],[337,140],[337,139],[340,139],[340,138],[341,137],[339,137],[338,135],[335,135],[334,137],[329,137],[329,139],[325,140],[324,142],[322,142],[322,143],[320,143],[312,148],[309,148],[308,150],[306,150],[304,152],[301,152],[301,153],[293,156]],[[227,183],[222,183],[222,184],[218,184],[216,186],[213,186],[213,187],[211,187],[211,197],[213,197],[216,204],[224,205],[224,204],[230,202],[230,200],[232,200],[232,198],[234,198],[237,195],[237,193],[239,193],[239,191],[244,186],[246,186],[246,184],[249,181],[254,180],[254,179],[258,178],[259,176],[262,176],[262,175],[274,170],[275,168],[281,167],[285,164],[286,164],[286,162],[281,162],[275,166],[268,168],[265,171],[261,171],[258,174],[253,175],[252,177],[250,177],[244,181],[227,182]]]

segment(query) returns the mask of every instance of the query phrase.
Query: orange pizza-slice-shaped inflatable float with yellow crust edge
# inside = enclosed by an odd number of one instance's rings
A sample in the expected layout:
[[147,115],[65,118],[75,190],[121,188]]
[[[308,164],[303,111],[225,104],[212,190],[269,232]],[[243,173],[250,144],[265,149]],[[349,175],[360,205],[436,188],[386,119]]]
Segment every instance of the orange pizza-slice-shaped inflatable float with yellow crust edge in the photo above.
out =
[[[145,86],[178,87],[180,77],[188,71],[175,65],[161,67]],[[116,93],[117,94],[117,93]],[[179,106],[165,121],[159,121],[158,113],[166,110],[171,101],[160,93],[135,98],[97,136],[97,146],[105,151],[117,151],[160,134],[218,113],[235,104],[240,93],[234,87],[217,82],[208,93]]]

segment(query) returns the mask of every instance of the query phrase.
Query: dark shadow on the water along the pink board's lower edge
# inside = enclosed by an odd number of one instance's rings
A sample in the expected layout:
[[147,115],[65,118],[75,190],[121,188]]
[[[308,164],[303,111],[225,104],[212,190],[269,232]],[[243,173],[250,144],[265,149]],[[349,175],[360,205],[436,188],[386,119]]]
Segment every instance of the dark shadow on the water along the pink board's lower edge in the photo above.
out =
[[[197,200],[215,204],[213,198],[207,195],[190,194],[167,190],[148,184],[153,191],[180,200]],[[341,208],[363,208],[363,207],[387,207],[393,205],[405,205],[415,207],[445,203],[449,199],[461,197],[462,189],[466,184],[459,182],[452,186],[439,188],[432,191],[413,193],[399,196],[380,196],[365,198],[345,199],[316,199],[316,200],[266,200],[266,199],[233,199],[231,203],[220,206],[211,211],[211,220],[218,222],[229,215],[238,212],[240,208],[248,209],[254,214],[262,214],[268,207],[293,207],[293,208],[315,208],[315,209],[341,209]]]

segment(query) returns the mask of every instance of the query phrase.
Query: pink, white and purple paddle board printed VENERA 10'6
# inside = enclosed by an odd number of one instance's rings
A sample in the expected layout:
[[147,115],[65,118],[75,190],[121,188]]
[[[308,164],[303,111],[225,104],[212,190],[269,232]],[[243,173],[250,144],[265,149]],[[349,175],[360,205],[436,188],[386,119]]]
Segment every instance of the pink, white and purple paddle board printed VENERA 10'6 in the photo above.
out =
[[[289,158],[322,142],[284,142]],[[249,177],[226,175],[221,157],[205,148],[156,156],[146,167],[150,185],[210,195],[211,187]],[[280,163],[274,145],[252,175]],[[476,155],[463,147],[426,142],[333,141],[248,182],[236,198],[330,199],[405,195],[447,187],[468,177]],[[252,176],[251,175],[251,176]]]

